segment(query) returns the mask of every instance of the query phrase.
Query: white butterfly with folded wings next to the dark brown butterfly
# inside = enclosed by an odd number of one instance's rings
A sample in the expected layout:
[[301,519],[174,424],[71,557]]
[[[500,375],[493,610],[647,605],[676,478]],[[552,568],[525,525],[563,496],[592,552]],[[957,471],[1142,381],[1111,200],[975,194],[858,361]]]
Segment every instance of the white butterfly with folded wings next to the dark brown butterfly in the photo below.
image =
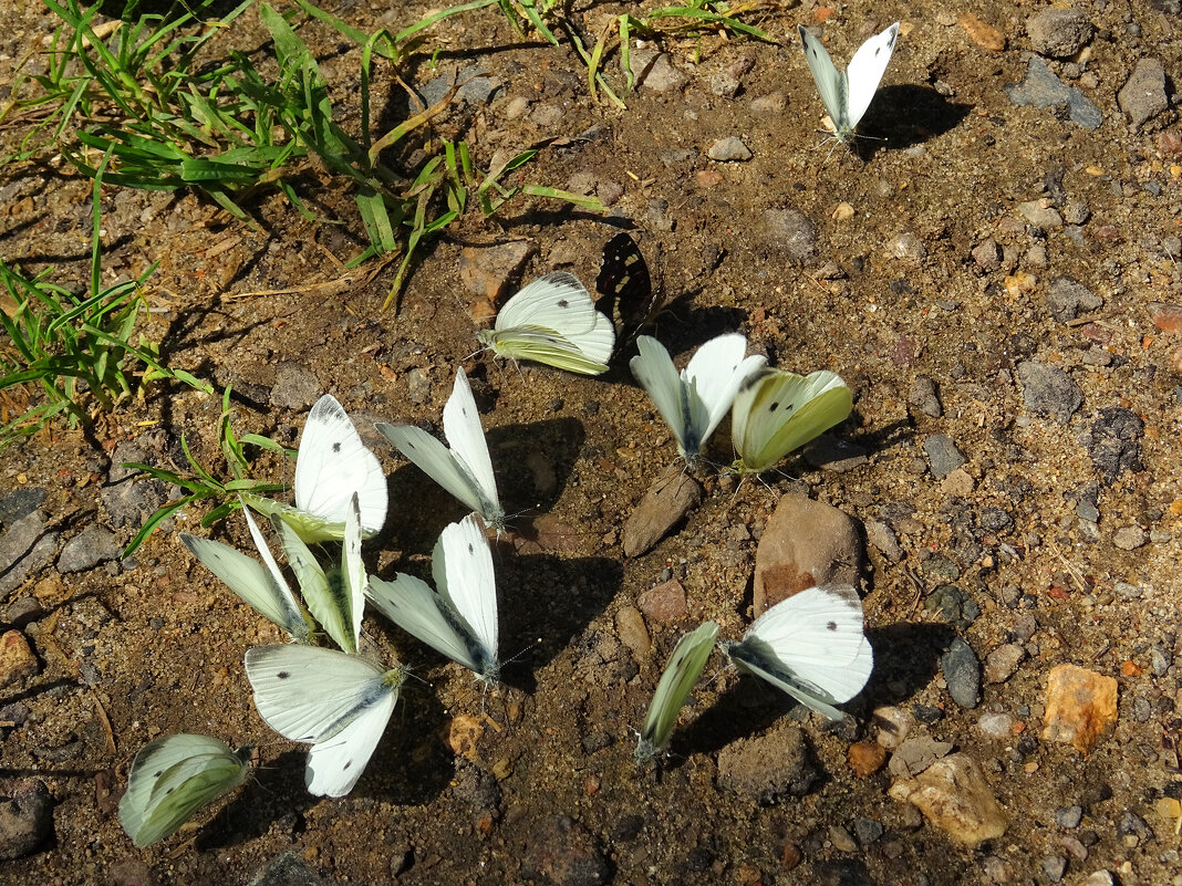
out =
[[591,293],[573,274],[546,274],[505,302],[492,330],[476,333],[501,357],[598,376],[616,346],[611,320],[595,310]]

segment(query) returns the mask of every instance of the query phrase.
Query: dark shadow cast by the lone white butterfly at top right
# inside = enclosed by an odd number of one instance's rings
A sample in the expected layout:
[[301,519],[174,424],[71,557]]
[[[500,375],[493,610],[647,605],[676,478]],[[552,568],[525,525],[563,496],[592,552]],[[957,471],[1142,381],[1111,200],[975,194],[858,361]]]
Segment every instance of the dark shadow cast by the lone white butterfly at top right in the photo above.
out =
[[853,141],[857,156],[866,162],[879,149],[903,150],[955,129],[973,105],[949,102],[931,86],[881,86]]

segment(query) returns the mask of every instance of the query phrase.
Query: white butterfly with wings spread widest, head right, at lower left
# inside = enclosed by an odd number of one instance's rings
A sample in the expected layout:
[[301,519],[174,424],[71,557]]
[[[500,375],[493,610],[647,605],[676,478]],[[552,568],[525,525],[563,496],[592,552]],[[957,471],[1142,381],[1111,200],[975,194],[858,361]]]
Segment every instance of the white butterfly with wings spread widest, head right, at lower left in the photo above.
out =
[[353,789],[405,679],[401,667],[383,671],[359,656],[290,645],[247,650],[246,676],[267,725],[312,745],[304,783],[317,796]]

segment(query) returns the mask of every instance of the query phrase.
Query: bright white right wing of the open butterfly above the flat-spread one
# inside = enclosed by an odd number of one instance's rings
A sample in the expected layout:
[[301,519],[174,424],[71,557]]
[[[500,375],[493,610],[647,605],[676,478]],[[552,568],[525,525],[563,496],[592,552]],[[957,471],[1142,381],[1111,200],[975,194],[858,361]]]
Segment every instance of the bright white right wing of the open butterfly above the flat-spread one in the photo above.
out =
[[496,576],[488,538],[472,514],[443,529],[431,554],[435,587],[472,630],[480,647],[473,670],[495,683],[498,664]]

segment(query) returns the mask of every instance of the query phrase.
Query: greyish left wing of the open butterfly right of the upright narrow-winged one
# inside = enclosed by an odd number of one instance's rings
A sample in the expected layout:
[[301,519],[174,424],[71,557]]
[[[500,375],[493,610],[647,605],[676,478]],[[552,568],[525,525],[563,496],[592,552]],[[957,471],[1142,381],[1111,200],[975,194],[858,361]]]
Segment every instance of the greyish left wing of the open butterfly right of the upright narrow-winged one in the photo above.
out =
[[403,631],[480,673],[481,650],[472,630],[426,581],[404,573],[395,575],[394,581],[371,575],[366,594],[378,611]]

